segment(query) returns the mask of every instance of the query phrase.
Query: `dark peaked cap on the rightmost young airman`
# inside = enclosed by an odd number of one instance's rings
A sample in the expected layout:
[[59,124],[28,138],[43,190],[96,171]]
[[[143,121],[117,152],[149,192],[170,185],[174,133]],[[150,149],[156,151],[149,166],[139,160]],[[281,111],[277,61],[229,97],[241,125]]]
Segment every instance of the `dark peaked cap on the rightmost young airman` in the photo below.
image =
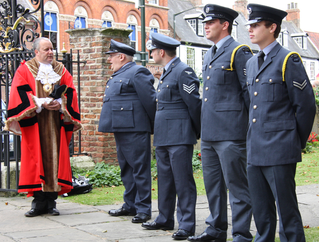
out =
[[282,19],[288,14],[285,11],[259,4],[249,4],[247,9],[249,13],[249,21],[246,25],[263,20],[273,21],[281,25]]

